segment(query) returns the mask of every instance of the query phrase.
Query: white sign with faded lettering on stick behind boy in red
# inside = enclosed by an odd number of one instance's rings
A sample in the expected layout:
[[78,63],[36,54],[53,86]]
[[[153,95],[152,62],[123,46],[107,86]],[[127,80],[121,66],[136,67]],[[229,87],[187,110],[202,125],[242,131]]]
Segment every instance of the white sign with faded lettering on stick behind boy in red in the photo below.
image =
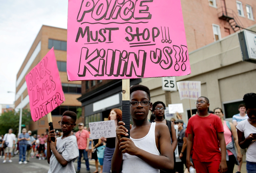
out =
[[201,97],[200,81],[179,81],[177,82],[180,100],[193,99],[197,100]]

